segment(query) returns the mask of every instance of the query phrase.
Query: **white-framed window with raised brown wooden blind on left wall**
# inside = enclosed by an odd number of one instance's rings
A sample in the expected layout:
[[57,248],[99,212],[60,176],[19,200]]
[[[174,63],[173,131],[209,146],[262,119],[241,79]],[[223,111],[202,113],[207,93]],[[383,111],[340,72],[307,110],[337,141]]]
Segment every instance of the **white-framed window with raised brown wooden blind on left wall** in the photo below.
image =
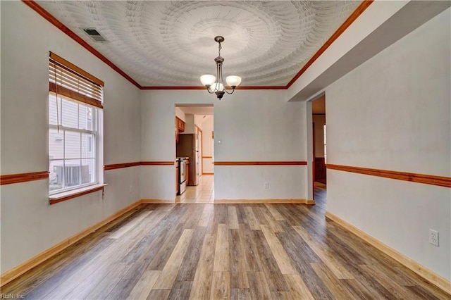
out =
[[49,193],[101,183],[103,82],[50,54]]

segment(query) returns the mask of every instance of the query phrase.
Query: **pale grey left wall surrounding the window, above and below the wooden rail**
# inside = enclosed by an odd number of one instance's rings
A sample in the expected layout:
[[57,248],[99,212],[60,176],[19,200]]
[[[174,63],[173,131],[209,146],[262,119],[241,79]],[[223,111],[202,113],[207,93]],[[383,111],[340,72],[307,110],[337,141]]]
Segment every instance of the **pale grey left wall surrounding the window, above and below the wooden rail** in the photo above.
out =
[[[49,170],[49,51],[105,82],[104,163],[140,160],[140,90],[21,1],[1,1],[1,174]],[[1,185],[1,273],[137,201],[140,167],[49,205],[49,181]],[[132,192],[130,192],[130,186]]]

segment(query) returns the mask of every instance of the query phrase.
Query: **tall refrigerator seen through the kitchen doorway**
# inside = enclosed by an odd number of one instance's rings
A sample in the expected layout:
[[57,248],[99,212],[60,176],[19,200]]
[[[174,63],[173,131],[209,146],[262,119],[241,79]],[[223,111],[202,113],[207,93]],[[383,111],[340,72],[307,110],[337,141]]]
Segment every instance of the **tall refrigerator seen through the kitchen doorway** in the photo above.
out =
[[197,159],[199,156],[199,143],[194,133],[187,133],[178,136],[176,149],[178,157],[187,157],[190,159],[190,168],[188,168],[187,185],[199,185],[199,172],[197,170]]

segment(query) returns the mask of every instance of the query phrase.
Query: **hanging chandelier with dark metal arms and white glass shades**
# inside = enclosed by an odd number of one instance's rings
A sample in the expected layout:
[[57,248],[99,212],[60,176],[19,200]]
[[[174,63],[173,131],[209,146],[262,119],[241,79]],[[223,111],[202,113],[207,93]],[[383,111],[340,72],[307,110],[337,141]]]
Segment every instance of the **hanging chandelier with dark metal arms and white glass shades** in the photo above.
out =
[[[224,42],[224,38],[221,36],[214,38],[215,42],[219,44],[218,47],[218,57],[214,59],[216,61],[216,77],[214,75],[202,75],[200,77],[200,81],[202,82],[202,85],[206,87],[206,90],[210,94],[216,94],[219,100],[224,96],[224,93],[227,94],[233,94],[235,92],[235,88],[240,85],[241,83],[241,77],[240,76],[227,76],[226,82],[229,87],[232,88],[232,92],[228,92],[228,90],[224,87],[224,80],[223,80],[223,62],[224,58],[221,57],[221,43]],[[217,79],[217,80],[216,80]]]

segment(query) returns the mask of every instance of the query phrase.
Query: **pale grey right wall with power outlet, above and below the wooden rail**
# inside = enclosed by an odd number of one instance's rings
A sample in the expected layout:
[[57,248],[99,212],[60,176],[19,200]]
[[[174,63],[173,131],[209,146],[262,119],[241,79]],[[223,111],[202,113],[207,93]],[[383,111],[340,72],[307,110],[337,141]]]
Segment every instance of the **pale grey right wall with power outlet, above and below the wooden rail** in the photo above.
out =
[[[326,88],[328,163],[451,177],[450,8]],[[328,170],[328,211],[451,279],[451,189]],[[428,243],[438,230],[440,246]]]

